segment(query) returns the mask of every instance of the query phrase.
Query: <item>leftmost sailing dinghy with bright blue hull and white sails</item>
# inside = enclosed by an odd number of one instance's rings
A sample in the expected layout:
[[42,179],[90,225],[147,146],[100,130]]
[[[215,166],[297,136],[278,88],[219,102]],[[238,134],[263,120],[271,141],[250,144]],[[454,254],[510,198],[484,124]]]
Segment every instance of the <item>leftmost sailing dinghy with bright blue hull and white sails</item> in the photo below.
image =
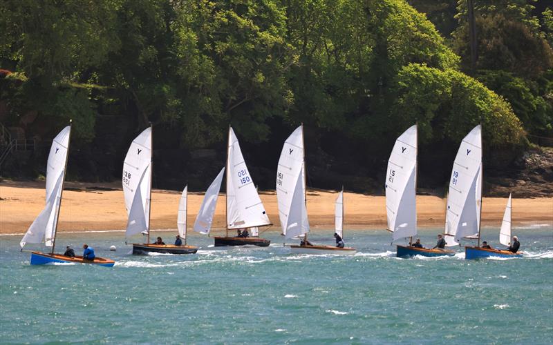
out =
[[65,255],[54,253],[57,221],[59,219],[59,210],[62,207],[62,193],[67,169],[70,137],[71,124],[59,132],[54,138],[52,147],[50,148],[50,154],[48,155],[48,166],[46,166],[46,206],[35,221],[32,222],[23,239],[21,239],[21,250],[23,250],[24,246],[28,243],[40,244],[44,241],[44,244],[47,247],[52,247],[52,250],[50,253],[32,251],[30,254],[31,265],[59,263],[93,264],[111,267],[115,262],[110,259],[104,259],[103,257],[85,260],[82,256],[66,257]]

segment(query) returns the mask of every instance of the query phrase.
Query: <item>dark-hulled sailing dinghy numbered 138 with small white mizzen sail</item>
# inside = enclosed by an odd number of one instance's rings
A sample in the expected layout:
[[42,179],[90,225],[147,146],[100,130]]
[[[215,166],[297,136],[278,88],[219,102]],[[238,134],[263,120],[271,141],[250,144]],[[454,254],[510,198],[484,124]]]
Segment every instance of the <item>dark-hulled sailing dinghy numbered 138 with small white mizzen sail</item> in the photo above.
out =
[[[125,197],[125,207],[129,219],[126,224],[125,237],[129,238],[140,233],[147,235],[147,241],[144,244],[133,243],[133,254],[144,255],[148,253],[166,253],[166,254],[193,254],[198,251],[196,246],[186,244],[186,209],[184,218],[182,218],[180,206],[177,220],[177,227],[182,228],[182,219],[184,219],[184,229],[181,237],[184,237],[185,244],[176,246],[174,244],[151,244],[150,243],[150,210],[151,210],[151,173],[152,173],[152,127],[146,128],[138,137],[136,137],[129,151],[126,152],[123,163],[123,193]],[[183,191],[184,201],[186,202],[187,188]],[[180,198],[182,203],[183,198]],[[181,224],[179,225],[179,221]]]

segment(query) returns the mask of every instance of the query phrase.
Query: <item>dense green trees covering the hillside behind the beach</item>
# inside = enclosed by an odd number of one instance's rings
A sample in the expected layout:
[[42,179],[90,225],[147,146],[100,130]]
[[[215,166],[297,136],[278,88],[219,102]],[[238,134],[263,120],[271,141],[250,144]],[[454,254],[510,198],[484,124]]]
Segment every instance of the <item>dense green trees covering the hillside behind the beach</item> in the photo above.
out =
[[198,169],[216,169],[175,162],[202,148],[222,161],[229,124],[261,175],[306,124],[310,184],[322,187],[340,175],[380,179],[393,138],[414,122],[429,150],[454,151],[480,123],[486,145],[509,152],[527,133],[553,135],[547,1],[474,0],[476,68],[465,0],[409,3],[4,0],[0,68],[13,73],[0,77],[0,121],[49,139],[73,119],[82,179],[117,177],[151,122],[164,150],[158,184],[186,175],[198,188],[210,178]]

